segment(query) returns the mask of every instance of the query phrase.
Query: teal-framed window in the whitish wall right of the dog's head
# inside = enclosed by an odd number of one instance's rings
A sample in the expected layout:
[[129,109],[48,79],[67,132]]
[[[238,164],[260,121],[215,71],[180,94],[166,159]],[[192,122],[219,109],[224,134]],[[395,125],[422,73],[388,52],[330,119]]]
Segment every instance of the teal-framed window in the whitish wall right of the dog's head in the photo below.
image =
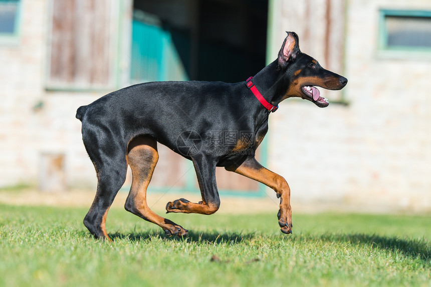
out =
[[431,11],[380,11],[379,48],[431,52]]

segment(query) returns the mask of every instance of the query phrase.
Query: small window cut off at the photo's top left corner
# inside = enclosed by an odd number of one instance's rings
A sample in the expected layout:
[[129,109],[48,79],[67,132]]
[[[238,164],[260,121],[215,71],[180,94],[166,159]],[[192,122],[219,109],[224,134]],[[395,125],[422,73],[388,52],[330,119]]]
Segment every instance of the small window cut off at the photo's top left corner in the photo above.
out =
[[0,38],[18,36],[19,0],[0,0]]

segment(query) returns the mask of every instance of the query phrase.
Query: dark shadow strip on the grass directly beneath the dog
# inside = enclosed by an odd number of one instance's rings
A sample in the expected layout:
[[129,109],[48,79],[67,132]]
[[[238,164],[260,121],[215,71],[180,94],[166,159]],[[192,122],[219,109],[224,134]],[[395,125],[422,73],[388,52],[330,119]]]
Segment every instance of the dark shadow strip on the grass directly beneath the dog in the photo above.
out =
[[243,232],[224,232],[220,233],[217,231],[188,231],[188,234],[184,238],[179,238],[177,236],[166,236],[163,231],[146,231],[146,232],[133,232],[131,234],[124,233],[110,233],[109,236],[111,239],[129,239],[132,241],[146,240],[152,238],[160,238],[162,240],[177,240],[177,241],[187,241],[187,242],[196,242],[196,243],[206,243],[206,244],[215,244],[215,243],[226,243],[230,244],[239,244],[243,240],[252,239],[255,237],[254,233],[243,233]]

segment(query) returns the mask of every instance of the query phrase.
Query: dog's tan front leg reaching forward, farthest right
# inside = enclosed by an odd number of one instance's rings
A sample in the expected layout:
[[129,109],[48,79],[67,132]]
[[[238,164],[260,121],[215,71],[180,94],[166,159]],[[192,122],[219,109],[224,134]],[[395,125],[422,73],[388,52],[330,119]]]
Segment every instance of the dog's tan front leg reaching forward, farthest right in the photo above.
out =
[[290,187],[284,177],[263,167],[254,156],[248,157],[241,165],[226,167],[226,170],[257,180],[277,192],[280,198],[278,224],[281,232],[292,233],[292,209],[290,208]]

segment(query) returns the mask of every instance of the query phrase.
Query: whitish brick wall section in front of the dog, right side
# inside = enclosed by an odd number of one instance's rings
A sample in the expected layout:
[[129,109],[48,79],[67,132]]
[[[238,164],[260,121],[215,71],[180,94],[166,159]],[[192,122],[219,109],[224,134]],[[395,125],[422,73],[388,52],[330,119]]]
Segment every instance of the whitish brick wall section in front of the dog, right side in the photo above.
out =
[[[293,201],[431,210],[431,54],[379,52],[379,9],[431,11],[431,2],[347,1],[345,69],[335,72],[349,80],[349,105],[287,100],[270,117],[270,167],[285,175]],[[278,42],[295,27],[279,30]]]

